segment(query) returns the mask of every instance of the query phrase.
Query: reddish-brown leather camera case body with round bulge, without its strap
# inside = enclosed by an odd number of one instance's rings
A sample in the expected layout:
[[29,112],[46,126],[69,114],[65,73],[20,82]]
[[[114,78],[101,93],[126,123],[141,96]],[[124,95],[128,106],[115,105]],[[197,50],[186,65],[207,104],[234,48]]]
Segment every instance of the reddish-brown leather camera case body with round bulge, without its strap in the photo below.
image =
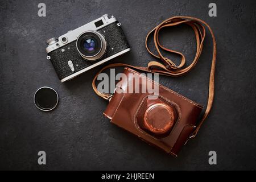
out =
[[[195,130],[196,120],[203,106],[163,85],[149,80],[146,76],[142,76],[131,68],[126,67],[123,73],[127,76],[127,80],[123,79],[118,82],[118,92],[116,90],[110,99],[104,115],[110,118],[111,122],[115,125],[176,156]],[[139,82],[134,84],[135,80],[139,80]],[[150,99],[148,89],[146,89],[146,93],[129,92],[130,86],[134,86],[133,90],[142,90],[142,88],[147,88],[147,84],[152,84],[152,88],[159,87],[158,98]],[[153,115],[147,112],[151,106],[155,106]],[[159,118],[161,112],[164,112],[162,113],[164,115],[162,115],[162,118]],[[171,126],[168,126],[168,121],[171,121]],[[151,128],[145,126],[145,122],[151,122]],[[152,122],[154,122],[153,126]],[[164,133],[159,135],[157,130],[159,126],[160,129],[167,127],[167,131],[164,130]]]

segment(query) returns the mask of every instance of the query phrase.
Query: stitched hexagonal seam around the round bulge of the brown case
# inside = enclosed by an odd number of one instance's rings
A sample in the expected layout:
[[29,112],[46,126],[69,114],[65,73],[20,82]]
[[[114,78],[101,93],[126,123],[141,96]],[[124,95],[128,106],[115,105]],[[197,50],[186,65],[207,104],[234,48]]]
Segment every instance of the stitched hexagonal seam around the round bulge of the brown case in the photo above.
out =
[[[142,106],[143,102],[144,102],[147,98],[148,98],[148,96],[145,96],[145,97],[142,99],[141,104],[139,104],[138,109],[136,110],[136,112],[135,112],[135,114],[134,114],[133,122],[134,122],[135,127],[136,127],[141,133],[146,134],[146,135],[148,135],[148,137],[154,138],[155,140],[161,140],[161,139],[158,139],[158,138],[156,138],[156,137],[154,137],[154,136],[152,136],[152,135],[146,133],[146,131],[141,130],[141,129],[137,126],[138,124],[136,124],[136,123],[137,123],[136,116],[137,116],[139,110],[141,109],[141,106]],[[174,126],[174,128],[175,128],[175,127],[177,126],[177,123],[179,123],[179,122],[180,122],[180,119],[181,119],[181,109],[180,109],[179,105],[177,105],[175,102],[172,102],[172,101],[168,100],[167,98],[165,98],[165,97],[163,97],[163,96],[160,96],[160,98],[163,98],[163,99],[166,100],[167,102],[170,102],[171,104],[174,104],[174,105],[177,107],[176,110],[177,110],[177,112],[179,113],[179,117],[178,117],[178,119],[177,119],[177,122],[175,123],[175,126]],[[174,128],[172,129],[172,131],[174,131]],[[171,133],[172,133],[172,131],[171,131]],[[171,135],[171,133],[170,133],[170,135]],[[170,135],[169,135],[169,136],[170,136]],[[176,143],[176,142],[175,142],[175,143]],[[171,147],[171,150],[172,150],[172,147]]]

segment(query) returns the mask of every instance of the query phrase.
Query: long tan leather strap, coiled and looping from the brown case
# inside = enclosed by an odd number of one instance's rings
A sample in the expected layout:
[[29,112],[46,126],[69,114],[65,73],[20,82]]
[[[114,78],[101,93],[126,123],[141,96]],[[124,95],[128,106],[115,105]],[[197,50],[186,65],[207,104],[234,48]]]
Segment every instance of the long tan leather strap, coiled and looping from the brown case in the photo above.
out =
[[[162,28],[172,27],[172,26],[176,26],[176,25],[179,25],[179,24],[183,24],[183,23],[188,24],[188,26],[192,27],[192,29],[193,29],[193,31],[195,32],[195,35],[196,35],[196,43],[197,43],[196,56],[195,56],[194,60],[192,61],[192,63],[188,67],[185,67],[185,68],[183,68],[184,65],[185,65],[185,56],[180,52],[177,52],[177,51],[174,51],[172,49],[168,49],[166,47],[163,47],[159,43],[159,36],[158,36],[159,31]],[[96,81],[96,78],[98,77],[98,74],[100,74],[105,69],[112,68],[112,67],[131,67],[131,68],[134,68],[134,69],[139,69],[139,70],[144,71],[144,72],[159,73],[160,75],[167,75],[167,76],[174,76],[174,77],[185,75],[185,73],[188,73],[189,71],[191,71],[191,69],[193,67],[195,67],[195,65],[196,65],[196,63],[199,60],[199,57],[201,55],[201,51],[203,49],[203,43],[204,43],[204,39],[205,39],[205,27],[204,26],[208,27],[208,29],[210,31],[210,34],[212,35],[213,56],[212,56],[212,66],[211,66],[211,69],[210,69],[210,77],[209,77],[208,104],[207,104],[207,108],[205,110],[205,113],[203,115],[203,118],[201,118],[201,121],[197,125],[196,130],[191,135],[191,138],[194,138],[196,136],[196,134],[198,133],[201,125],[205,121],[205,118],[207,118],[210,109],[212,108],[213,97],[214,97],[214,71],[215,71],[216,52],[217,52],[216,40],[215,40],[213,31],[209,27],[209,25],[201,19],[197,19],[197,18],[193,18],[193,17],[189,17],[189,16],[174,16],[172,18],[168,18],[168,19],[164,20],[162,23],[160,23],[158,26],[156,26],[150,32],[148,32],[147,37],[146,37],[146,42],[145,42],[147,51],[152,56],[160,59],[163,63],[159,63],[158,61],[150,61],[147,65],[147,67],[135,67],[133,65],[123,64],[123,63],[109,64],[106,67],[102,68],[101,71],[98,72],[97,75],[94,77],[93,82],[92,82],[92,87],[93,87],[94,92],[96,92],[96,94],[98,94],[98,96],[100,96],[100,97],[102,97],[106,100],[109,100],[111,95],[110,94],[105,94],[105,93],[100,93],[97,90],[95,81]],[[150,51],[150,49],[148,48],[148,46],[147,46],[148,36],[150,36],[153,33],[154,33],[155,48],[156,48],[156,51],[158,52],[158,55],[155,55],[154,53],[152,53]],[[176,53],[177,55],[181,56],[180,64],[176,65],[174,62],[172,62],[172,60],[168,59],[167,57],[164,57],[162,55],[162,53],[160,52],[160,49],[164,49],[167,52]]]

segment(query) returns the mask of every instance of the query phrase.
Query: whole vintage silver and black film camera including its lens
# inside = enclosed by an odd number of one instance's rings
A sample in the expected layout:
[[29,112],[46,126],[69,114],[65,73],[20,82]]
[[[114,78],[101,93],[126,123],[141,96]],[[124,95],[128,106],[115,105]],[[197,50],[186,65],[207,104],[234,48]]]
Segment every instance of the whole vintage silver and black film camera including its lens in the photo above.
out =
[[130,51],[121,23],[107,14],[46,43],[47,59],[61,82]]

